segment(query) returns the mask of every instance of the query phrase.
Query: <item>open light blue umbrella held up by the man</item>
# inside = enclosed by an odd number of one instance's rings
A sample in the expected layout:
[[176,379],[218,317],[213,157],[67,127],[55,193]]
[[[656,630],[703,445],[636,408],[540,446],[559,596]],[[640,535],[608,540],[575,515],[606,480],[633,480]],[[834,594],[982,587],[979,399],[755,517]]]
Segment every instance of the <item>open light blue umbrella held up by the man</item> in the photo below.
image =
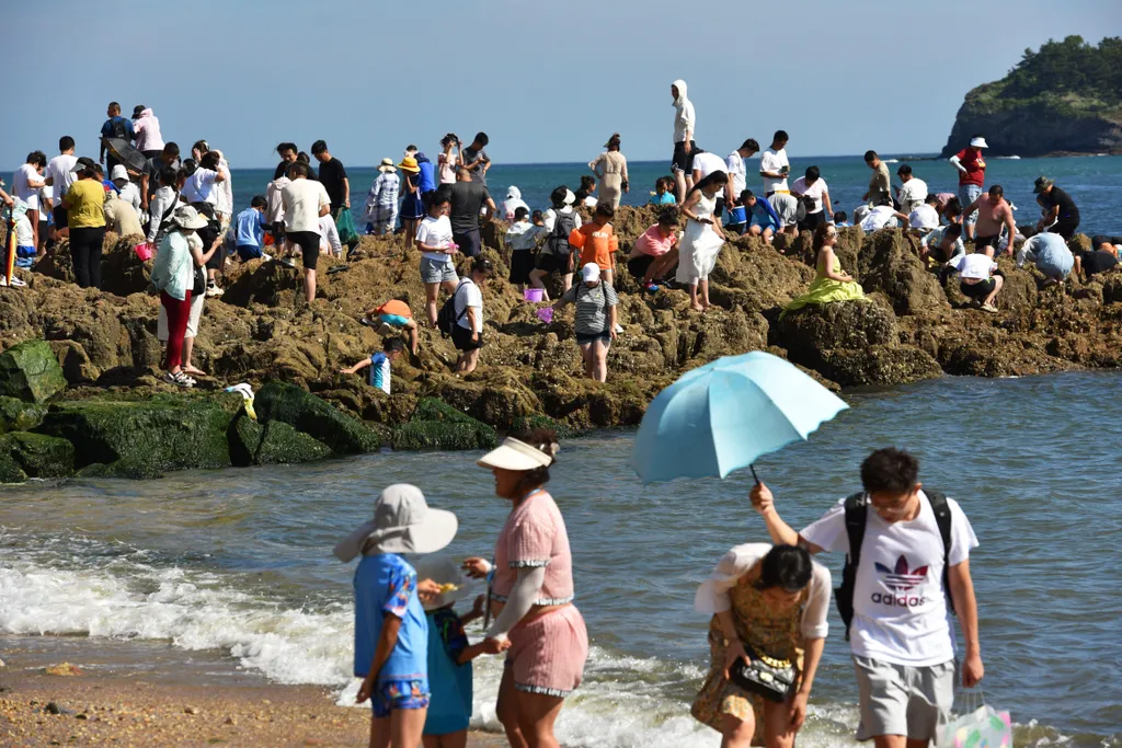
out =
[[638,427],[631,464],[647,483],[724,478],[806,440],[848,407],[776,355],[729,355],[682,375],[659,393]]

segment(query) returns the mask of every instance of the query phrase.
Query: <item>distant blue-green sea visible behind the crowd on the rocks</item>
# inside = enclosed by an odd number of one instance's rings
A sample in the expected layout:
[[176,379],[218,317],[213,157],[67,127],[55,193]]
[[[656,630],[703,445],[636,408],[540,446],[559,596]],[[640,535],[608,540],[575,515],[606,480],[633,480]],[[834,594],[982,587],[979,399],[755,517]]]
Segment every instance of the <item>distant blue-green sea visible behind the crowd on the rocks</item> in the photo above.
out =
[[[703,144],[702,144],[703,145]],[[434,151],[435,153],[435,151]],[[721,157],[727,151],[717,151]],[[591,158],[595,154],[591,154]],[[801,176],[808,166],[818,166],[822,178],[830,190],[835,201],[835,210],[846,211],[850,218],[853,210],[861,203],[861,196],[868,188],[870,169],[862,156],[803,156],[798,151],[790,153],[791,174]],[[355,219],[361,218],[366,193],[377,177],[374,168],[349,166],[348,175],[351,183],[351,207],[356,211]],[[899,186],[895,178],[896,160],[908,160],[914,156],[892,156],[883,158],[891,161],[889,170],[893,175],[893,185]],[[958,188],[957,172],[945,160],[910,160],[916,176],[928,184],[935,192],[956,192]],[[760,193],[763,188],[758,178],[752,178],[756,160],[748,165],[748,188]],[[237,166],[237,164],[234,164]],[[624,195],[624,205],[642,205],[650,201],[654,191],[654,181],[670,174],[669,163],[636,161],[628,164],[631,192]],[[516,185],[522,191],[522,198],[531,209],[545,210],[550,206],[550,193],[558,185],[568,185],[573,192],[580,185],[580,177],[589,174],[587,164],[521,164],[505,165],[497,163],[487,175],[487,184],[496,203],[506,198],[506,190]],[[1032,183],[1039,175],[1046,174],[1056,179],[1057,184],[1067,190],[1079,206],[1082,223],[1079,231],[1093,236],[1096,233],[1122,234],[1122,218],[1118,209],[1122,205],[1122,156],[1075,156],[1066,158],[993,158],[986,168],[986,184],[1000,184],[1005,188],[1005,195],[1018,206],[1018,223],[1036,223],[1040,218],[1040,209],[1032,194]],[[273,178],[272,169],[238,169],[231,174],[233,178],[234,206],[241,210],[249,205],[256,194],[265,194],[265,187]],[[361,228],[361,227],[360,227]]]

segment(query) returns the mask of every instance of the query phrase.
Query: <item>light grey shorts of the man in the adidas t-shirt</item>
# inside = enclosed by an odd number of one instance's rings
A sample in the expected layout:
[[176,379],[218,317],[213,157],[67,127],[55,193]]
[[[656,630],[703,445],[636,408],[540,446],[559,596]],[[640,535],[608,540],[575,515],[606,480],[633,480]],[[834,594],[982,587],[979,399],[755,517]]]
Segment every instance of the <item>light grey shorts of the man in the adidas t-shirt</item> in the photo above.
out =
[[955,661],[927,667],[853,656],[861,722],[857,740],[902,735],[935,741],[955,703]]

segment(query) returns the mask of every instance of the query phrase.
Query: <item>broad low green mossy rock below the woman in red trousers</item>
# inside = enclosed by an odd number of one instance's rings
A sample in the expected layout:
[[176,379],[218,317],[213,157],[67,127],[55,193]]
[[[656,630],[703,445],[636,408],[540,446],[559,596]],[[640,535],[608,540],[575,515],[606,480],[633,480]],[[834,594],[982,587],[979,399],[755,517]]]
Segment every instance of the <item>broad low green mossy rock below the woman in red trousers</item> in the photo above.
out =
[[228,401],[212,398],[96,398],[50,406],[37,431],[72,443],[79,469],[102,463],[102,474],[156,478],[168,470],[229,467],[232,417]]

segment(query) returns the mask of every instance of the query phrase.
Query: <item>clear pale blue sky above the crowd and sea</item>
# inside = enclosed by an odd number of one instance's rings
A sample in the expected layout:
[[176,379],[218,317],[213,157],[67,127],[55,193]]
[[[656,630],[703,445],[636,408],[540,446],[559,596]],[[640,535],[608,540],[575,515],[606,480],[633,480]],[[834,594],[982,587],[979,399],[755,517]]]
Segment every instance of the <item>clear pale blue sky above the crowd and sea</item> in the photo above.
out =
[[967,91],[1049,38],[1122,35],[1122,2],[42,0],[4,20],[7,174],[62,135],[96,157],[111,100],[234,168],[283,140],[369,166],[479,130],[495,163],[589,160],[614,131],[669,160],[675,79],[706,150],[784,129],[792,154],[931,153]]

